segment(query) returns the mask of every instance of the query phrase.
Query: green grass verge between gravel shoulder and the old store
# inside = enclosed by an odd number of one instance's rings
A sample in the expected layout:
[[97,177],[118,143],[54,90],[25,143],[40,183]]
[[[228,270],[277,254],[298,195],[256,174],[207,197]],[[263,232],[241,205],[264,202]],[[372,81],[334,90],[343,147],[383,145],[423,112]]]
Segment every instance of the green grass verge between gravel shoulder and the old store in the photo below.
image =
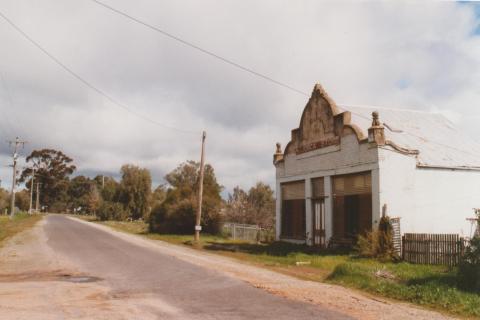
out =
[[[311,247],[275,242],[253,244],[202,234],[161,235],[148,232],[144,222],[99,222],[154,240],[187,245],[240,259],[298,278],[338,284],[391,299],[408,301],[456,316],[480,318],[480,293],[458,289],[456,269],[409,263],[382,263],[348,253],[317,252]],[[297,263],[303,263],[297,265]]]

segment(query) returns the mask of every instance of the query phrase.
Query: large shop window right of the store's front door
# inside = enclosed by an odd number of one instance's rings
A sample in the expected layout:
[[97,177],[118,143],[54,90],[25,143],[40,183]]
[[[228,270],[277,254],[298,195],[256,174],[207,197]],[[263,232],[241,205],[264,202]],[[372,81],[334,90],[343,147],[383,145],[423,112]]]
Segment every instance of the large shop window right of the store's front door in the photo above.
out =
[[333,177],[333,235],[356,239],[372,228],[370,172]]

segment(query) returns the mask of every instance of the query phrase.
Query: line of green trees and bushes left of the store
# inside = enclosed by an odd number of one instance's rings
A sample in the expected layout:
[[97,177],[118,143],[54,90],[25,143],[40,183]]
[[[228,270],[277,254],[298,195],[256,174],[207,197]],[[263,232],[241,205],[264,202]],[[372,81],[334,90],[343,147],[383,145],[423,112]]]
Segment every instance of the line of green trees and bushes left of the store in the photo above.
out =
[[[16,193],[16,206],[28,210],[30,191],[39,183],[40,203],[49,212],[92,214],[100,220],[138,220],[148,222],[150,230],[160,233],[192,233],[198,206],[200,164],[187,161],[168,173],[152,190],[152,178],[145,168],[126,164],[120,168],[119,181],[113,177],[84,175],[72,177],[73,159],[58,150],[33,151],[26,158],[28,167],[19,182],[25,189]],[[32,168],[35,178],[32,184]],[[207,233],[221,232],[225,221],[274,225],[274,198],[270,186],[258,182],[248,191],[236,187],[223,200],[223,187],[214,168],[206,164],[203,184],[202,227]],[[9,206],[9,193],[0,189],[0,210]],[[35,207],[35,205],[34,205]]]

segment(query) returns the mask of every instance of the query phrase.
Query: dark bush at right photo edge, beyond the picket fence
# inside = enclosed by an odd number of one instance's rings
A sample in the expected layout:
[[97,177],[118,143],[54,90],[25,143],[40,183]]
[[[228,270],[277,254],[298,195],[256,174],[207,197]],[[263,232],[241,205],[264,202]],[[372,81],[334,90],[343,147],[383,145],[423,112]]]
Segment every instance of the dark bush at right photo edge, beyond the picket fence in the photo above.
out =
[[470,240],[458,267],[459,285],[480,292],[480,236]]

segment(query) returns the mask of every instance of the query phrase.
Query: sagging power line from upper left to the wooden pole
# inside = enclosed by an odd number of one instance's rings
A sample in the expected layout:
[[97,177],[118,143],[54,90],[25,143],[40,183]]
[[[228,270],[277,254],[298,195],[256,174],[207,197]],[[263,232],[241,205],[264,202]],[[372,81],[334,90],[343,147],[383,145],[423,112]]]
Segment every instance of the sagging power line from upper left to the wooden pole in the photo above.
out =
[[58,64],[60,67],[62,67],[65,71],[67,71],[70,75],[72,75],[74,78],[76,78],[78,81],[82,82],[85,86],[87,86],[88,88],[92,89],[93,91],[95,91],[96,93],[98,93],[99,95],[103,96],[104,98],[106,98],[107,100],[109,100],[110,102],[112,102],[114,105],[126,110],[127,112],[135,115],[136,117],[138,118],[141,118],[145,121],[148,121],[154,125],[157,125],[157,126],[160,126],[160,127],[163,127],[163,128],[166,128],[166,129],[171,129],[171,130],[176,130],[176,131],[179,131],[179,132],[183,132],[183,133],[192,133],[192,134],[197,134],[199,133],[200,131],[193,131],[193,130],[185,130],[185,129],[180,129],[180,128],[176,128],[176,127],[172,127],[172,126],[169,126],[169,125],[165,125],[163,123],[160,123],[160,122],[157,122],[141,113],[138,113],[136,112],[135,110],[132,110],[130,107],[128,107],[127,105],[121,103],[120,101],[116,100],[115,98],[113,98],[112,96],[110,96],[109,94],[107,94],[105,91],[95,87],[93,84],[91,84],[90,82],[88,82],[87,80],[85,80],[83,77],[81,77],[79,74],[77,74],[75,71],[73,71],[71,68],[69,68],[67,65],[65,65],[63,62],[61,62],[58,58],[56,58],[52,53],[50,53],[49,51],[47,51],[43,46],[41,46],[37,41],[35,41],[33,38],[31,38],[27,33],[25,33],[22,29],[20,29],[20,27],[18,27],[15,23],[13,23],[12,20],[10,20],[9,18],[7,18],[5,16],[5,14],[3,14],[3,12],[0,11],[0,17],[2,17],[8,24],[10,24],[18,33],[20,33],[25,39],[27,39],[28,41],[30,41],[35,47],[37,47],[40,51],[42,51],[46,56],[48,56],[51,60],[53,60],[56,64]]

